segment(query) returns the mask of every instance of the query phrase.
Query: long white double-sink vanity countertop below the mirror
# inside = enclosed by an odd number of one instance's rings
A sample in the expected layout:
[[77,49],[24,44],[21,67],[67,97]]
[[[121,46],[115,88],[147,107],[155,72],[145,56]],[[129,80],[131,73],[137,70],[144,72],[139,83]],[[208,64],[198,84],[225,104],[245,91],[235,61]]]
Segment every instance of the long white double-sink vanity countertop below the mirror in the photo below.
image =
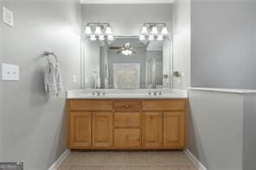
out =
[[[93,91],[106,92],[106,95],[96,96]],[[161,91],[161,95],[149,95],[149,91]],[[170,89],[132,89],[132,90],[114,90],[114,89],[99,89],[88,90],[80,89],[67,91],[67,99],[164,99],[164,98],[188,98],[188,91],[170,90]]]

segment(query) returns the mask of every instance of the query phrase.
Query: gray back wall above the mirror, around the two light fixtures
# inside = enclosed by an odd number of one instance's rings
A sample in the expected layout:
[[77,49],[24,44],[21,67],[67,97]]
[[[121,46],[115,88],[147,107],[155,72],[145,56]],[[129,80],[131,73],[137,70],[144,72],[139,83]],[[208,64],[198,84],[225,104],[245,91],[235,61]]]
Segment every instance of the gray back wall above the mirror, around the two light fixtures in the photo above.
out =
[[139,35],[144,22],[171,28],[171,4],[83,4],[82,22],[110,22],[114,35]]

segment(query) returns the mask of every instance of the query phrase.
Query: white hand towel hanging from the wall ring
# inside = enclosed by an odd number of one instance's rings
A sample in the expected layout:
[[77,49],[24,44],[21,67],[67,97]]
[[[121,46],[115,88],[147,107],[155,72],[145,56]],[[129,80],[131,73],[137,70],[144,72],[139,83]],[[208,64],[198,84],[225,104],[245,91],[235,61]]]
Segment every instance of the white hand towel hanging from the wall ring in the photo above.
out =
[[50,63],[44,71],[45,91],[56,95],[63,91],[61,67],[58,63]]

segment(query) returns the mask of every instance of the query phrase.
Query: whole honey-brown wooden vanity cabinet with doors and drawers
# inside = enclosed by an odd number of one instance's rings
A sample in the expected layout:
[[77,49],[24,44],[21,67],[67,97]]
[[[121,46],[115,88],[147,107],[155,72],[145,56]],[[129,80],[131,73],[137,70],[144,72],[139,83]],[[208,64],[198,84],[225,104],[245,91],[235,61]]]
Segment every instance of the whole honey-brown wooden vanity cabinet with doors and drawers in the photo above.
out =
[[68,99],[68,148],[182,149],[186,99]]

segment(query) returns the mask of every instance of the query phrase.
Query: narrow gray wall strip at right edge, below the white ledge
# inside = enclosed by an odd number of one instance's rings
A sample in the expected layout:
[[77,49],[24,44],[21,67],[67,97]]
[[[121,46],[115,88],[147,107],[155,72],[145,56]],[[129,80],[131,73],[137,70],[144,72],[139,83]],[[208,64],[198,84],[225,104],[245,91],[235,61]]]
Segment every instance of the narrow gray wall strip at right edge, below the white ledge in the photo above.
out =
[[243,170],[256,169],[256,94],[245,96]]

